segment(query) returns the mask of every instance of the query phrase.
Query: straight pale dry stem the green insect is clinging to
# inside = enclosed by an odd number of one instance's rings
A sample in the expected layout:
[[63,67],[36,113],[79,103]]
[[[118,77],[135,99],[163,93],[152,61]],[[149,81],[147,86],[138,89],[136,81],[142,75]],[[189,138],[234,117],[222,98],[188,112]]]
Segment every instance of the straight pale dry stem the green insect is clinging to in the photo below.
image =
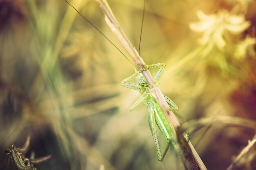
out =
[[161,90],[158,88],[158,86],[154,83],[153,78],[148,70],[144,68],[146,65],[143,59],[139,56],[139,53],[136,51],[136,49],[132,46],[129,39],[125,35],[124,31],[119,26],[117,20],[115,19],[115,16],[113,15],[110,7],[108,6],[108,3],[106,0],[96,0],[101,7],[101,10],[105,14],[105,20],[112,30],[112,32],[117,36],[121,44],[124,46],[126,51],[128,51],[130,57],[132,57],[132,60],[135,62],[135,64],[138,66],[138,68],[141,70],[141,73],[146,78],[148,84],[151,86],[150,88],[150,94],[157,100],[158,104],[161,106],[162,110],[164,111],[169,124],[171,125],[174,133],[175,140],[180,141],[180,145],[184,154],[184,157],[187,161],[191,164],[193,170],[207,170],[207,168],[204,166],[204,163],[198,156],[198,153],[193,148],[193,145],[191,142],[187,142],[183,135],[180,135],[177,139],[176,130],[180,126],[179,121],[175,117],[174,113],[170,111],[170,108],[164,99],[164,96],[161,92]]

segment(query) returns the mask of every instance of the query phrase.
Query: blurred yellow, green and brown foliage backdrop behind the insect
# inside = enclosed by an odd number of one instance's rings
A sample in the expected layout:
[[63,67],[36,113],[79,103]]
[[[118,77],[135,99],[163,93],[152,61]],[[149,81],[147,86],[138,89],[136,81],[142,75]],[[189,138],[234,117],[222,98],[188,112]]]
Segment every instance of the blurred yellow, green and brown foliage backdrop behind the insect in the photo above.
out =
[[[94,0],[69,2],[127,55]],[[139,49],[144,1],[109,4]],[[140,54],[166,64],[160,88],[186,120],[256,120],[255,34],[254,0],[146,0]],[[157,161],[146,107],[128,109],[139,93],[120,82],[132,65],[64,0],[0,0],[0,43],[1,170],[4,149],[29,134],[29,153],[52,155],[38,170],[183,169],[174,150]],[[209,170],[227,168],[255,133],[205,129],[190,135]],[[237,169],[256,168],[254,151]]]

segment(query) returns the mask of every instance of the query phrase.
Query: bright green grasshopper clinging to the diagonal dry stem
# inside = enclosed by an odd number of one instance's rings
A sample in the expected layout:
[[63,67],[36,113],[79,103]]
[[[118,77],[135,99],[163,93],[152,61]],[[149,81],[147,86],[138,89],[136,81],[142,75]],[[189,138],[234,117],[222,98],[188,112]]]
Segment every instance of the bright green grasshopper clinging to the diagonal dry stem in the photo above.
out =
[[[151,68],[157,68],[157,67],[159,67],[159,70],[157,71],[157,73],[153,79],[155,84],[158,84],[158,79],[160,78],[160,76],[162,75],[162,73],[164,71],[165,64],[158,63],[158,64],[144,66],[144,69],[151,69]],[[141,71],[142,70],[139,70],[135,74],[124,79],[121,82],[121,85],[124,87],[127,87],[127,88],[131,88],[133,90],[139,91],[139,93],[141,94],[141,96],[135,102],[135,104],[133,104],[130,107],[130,110],[131,111],[134,110],[135,107],[137,107],[139,103],[144,101],[144,103],[148,109],[148,124],[150,127],[150,131],[152,133],[152,136],[154,138],[154,141],[155,141],[158,161],[163,161],[164,157],[168,151],[168,148],[170,148],[171,145],[174,145],[174,141],[172,138],[173,133],[172,133],[171,127],[170,127],[168,120],[167,120],[166,116],[164,115],[164,112],[162,111],[161,107],[159,106],[159,104],[157,103],[155,98],[152,95],[150,95],[150,93],[148,93],[150,86],[149,86],[148,82],[146,81],[145,77],[143,76],[143,74],[141,73]],[[133,79],[136,79],[137,84],[130,83],[130,81]],[[178,110],[178,107],[176,106],[176,104],[169,97],[164,95],[164,98],[166,99],[166,102],[170,106],[170,110],[172,110],[172,111]],[[160,131],[164,135],[165,139],[167,140],[167,146],[164,150],[163,155],[161,154],[161,151],[160,151],[160,146],[159,146],[159,141],[158,141],[158,137],[157,137],[157,130],[156,130],[155,123],[157,124],[158,128],[160,129]]]

